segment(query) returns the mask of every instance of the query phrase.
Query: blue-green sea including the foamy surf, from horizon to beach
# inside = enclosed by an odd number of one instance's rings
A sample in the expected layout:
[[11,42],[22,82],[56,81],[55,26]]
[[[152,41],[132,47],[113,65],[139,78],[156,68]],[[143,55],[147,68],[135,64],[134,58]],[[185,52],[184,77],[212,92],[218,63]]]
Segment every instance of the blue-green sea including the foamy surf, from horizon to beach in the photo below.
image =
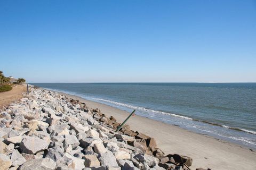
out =
[[256,148],[256,83],[31,84]]

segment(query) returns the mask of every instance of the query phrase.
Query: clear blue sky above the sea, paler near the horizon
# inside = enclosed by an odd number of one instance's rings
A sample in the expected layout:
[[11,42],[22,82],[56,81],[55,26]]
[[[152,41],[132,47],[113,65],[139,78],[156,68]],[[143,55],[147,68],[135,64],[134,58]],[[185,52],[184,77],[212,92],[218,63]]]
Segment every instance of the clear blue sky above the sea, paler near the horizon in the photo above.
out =
[[28,82],[256,82],[256,1],[0,1]]

